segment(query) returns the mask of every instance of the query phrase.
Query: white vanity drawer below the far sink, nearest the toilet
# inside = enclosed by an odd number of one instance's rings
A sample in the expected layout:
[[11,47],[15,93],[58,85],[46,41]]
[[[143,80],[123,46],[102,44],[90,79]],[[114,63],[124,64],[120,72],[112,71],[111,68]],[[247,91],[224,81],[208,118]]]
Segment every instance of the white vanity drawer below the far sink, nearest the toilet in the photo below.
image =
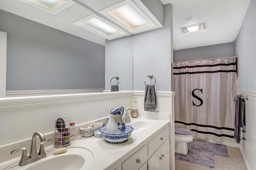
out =
[[156,137],[148,142],[148,155],[152,155],[168,139],[169,127],[162,130]]

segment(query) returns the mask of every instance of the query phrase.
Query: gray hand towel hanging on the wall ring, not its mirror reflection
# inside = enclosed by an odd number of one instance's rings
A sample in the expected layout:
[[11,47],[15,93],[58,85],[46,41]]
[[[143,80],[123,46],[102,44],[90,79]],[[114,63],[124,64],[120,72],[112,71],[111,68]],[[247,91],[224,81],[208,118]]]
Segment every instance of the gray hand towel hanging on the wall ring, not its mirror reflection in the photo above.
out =
[[144,111],[154,111],[156,109],[155,86],[146,84],[144,97]]

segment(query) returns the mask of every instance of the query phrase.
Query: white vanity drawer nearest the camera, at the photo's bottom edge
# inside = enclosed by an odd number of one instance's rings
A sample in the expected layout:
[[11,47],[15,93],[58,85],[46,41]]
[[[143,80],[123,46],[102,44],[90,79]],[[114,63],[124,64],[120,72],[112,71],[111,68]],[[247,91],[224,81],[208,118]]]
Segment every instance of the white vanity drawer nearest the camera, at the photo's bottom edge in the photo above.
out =
[[147,146],[144,145],[122,163],[122,170],[136,170],[146,161],[146,158]]

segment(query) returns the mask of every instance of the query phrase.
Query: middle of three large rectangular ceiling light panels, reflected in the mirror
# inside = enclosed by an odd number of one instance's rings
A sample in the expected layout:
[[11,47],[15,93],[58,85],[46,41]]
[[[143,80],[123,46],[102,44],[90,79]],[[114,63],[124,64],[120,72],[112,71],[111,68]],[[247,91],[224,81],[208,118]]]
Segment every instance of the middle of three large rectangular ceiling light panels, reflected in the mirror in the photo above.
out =
[[122,29],[95,14],[82,18],[74,24],[109,40],[127,35]]

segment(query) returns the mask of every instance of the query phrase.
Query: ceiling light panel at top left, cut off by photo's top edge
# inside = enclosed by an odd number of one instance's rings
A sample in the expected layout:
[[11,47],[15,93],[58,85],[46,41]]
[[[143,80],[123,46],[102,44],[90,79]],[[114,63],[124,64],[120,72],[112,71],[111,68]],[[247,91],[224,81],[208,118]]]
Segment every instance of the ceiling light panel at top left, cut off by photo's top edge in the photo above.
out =
[[72,0],[21,0],[52,15],[75,4]]

